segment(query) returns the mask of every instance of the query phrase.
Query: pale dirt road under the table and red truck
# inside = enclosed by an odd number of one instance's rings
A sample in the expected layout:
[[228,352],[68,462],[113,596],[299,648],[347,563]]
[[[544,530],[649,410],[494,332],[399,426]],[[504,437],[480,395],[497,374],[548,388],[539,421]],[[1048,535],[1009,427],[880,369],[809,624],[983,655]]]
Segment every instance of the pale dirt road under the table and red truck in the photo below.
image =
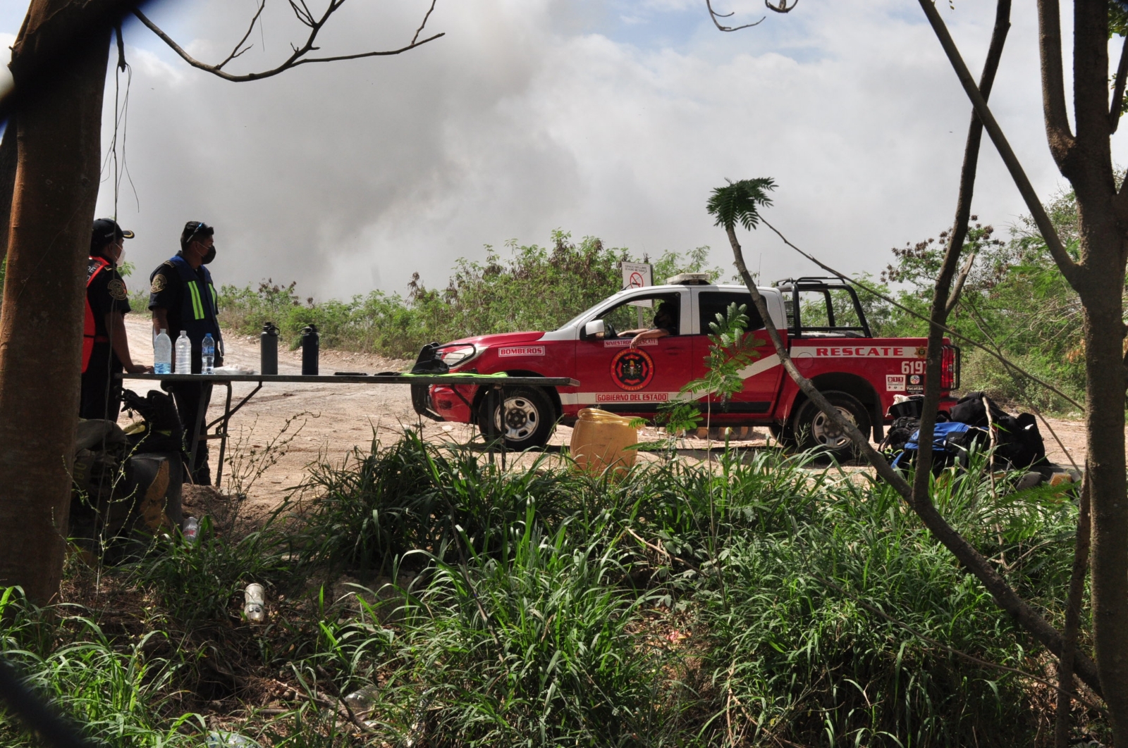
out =
[[[134,313],[126,317],[130,350],[134,360],[152,364],[151,328],[147,314]],[[258,369],[258,338],[228,336],[228,365]],[[367,354],[350,354],[323,350],[320,371],[332,374],[336,371],[368,372],[406,371],[411,362],[381,358]],[[300,374],[301,351],[279,351],[279,373]],[[134,382],[132,388],[142,394],[144,383]],[[239,398],[254,389],[253,384],[236,383],[233,398]],[[226,390],[215,388],[210,420],[223,413]],[[123,413],[122,420],[129,420]],[[223,490],[246,493],[261,508],[275,505],[287,489],[301,482],[309,472],[310,464],[328,462],[337,464],[353,448],[368,449],[373,436],[381,443],[399,439],[405,427],[418,427],[421,419],[412,409],[407,386],[394,384],[327,384],[327,383],[280,383],[267,384],[240,410],[231,422],[232,440],[229,446],[231,462],[223,466]],[[1083,464],[1085,453],[1084,427],[1079,421],[1050,419],[1066,448],[1077,464]],[[461,424],[439,424],[422,419],[423,436],[428,439],[452,439],[467,442],[472,438],[470,427]],[[1054,437],[1040,425],[1046,438],[1050,458],[1064,465],[1068,456]],[[280,437],[281,434],[281,437]],[[567,444],[572,429],[562,426],[553,436],[553,444]],[[653,429],[643,429],[643,439],[656,439]],[[264,451],[274,443],[268,456]],[[766,439],[742,442],[748,446],[766,446]],[[690,449],[704,449],[702,439],[687,439]],[[215,470],[218,446],[212,446],[212,470]],[[700,456],[704,456],[702,453]],[[272,462],[276,460],[276,462]],[[224,461],[227,462],[227,461]],[[272,464],[267,464],[272,463]],[[263,468],[262,474],[249,482]]]

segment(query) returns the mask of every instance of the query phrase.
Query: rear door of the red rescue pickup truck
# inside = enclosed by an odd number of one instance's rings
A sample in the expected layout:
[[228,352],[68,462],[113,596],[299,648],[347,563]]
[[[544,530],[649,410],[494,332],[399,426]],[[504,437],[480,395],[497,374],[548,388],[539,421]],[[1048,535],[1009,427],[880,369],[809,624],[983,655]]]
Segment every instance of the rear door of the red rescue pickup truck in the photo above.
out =
[[[751,294],[733,291],[702,290],[697,292],[698,333],[693,337],[694,377],[698,379],[706,374],[705,357],[710,353],[708,333],[712,331],[710,322],[716,322],[717,314],[723,318],[725,310],[733,303],[738,308],[741,305],[746,308],[744,313],[748,315],[748,330],[759,341],[759,345],[756,347],[759,356],[754,358],[741,372],[744,376],[743,392],[737,393],[728,403],[725,410],[720,411],[714,409],[713,412],[767,418],[772,412],[772,406],[775,403],[776,392],[779,388],[779,377],[783,375],[783,366],[781,366],[779,357],[776,355],[775,348],[772,346],[772,340],[768,338],[768,332],[764,328],[764,321],[760,319],[759,312],[756,311]],[[783,331],[781,330],[781,332]],[[714,398],[713,400],[716,401],[717,399]]]

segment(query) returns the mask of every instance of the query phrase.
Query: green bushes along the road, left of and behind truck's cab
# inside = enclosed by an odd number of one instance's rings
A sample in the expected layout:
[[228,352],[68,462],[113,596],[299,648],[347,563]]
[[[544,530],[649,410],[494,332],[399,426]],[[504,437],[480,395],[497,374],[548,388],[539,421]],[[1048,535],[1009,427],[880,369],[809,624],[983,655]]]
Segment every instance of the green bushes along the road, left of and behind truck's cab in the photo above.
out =
[[[373,291],[349,301],[302,300],[297,285],[265,280],[257,288],[223,286],[221,323],[245,335],[262,330],[267,320],[296,346],[301,329],[316,324],[321,345],[364,350],[393,358],[414,358],[432,340],[446,342],[469,335],[554,330],[579,312],[619,291],[622,261],[640,261],[623,248],[608,248],[594,237],[579,243],[554,231],[552,244],[509,242],[510,257],[486,247],[481,262],[459,259],[446,288],[429,288],[416,273],[408,293]],[[666,252],[654,260],[654,280],[682,271],[708,271],[708,247],[685,256]]]

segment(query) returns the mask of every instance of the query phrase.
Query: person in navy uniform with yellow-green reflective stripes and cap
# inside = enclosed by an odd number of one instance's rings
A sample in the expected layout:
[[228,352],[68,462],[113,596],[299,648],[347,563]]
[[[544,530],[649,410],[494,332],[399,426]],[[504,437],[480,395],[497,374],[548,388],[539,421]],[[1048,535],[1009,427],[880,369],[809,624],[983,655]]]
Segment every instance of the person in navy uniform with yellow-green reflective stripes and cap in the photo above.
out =
[[[223,364],[223,339],[219,331],[215,286],[204,266],[215,258],[215,230],[203,221],[188,221],[180,233],[180,251],[165,260],[149,276],[149,309],[152,311],[153,335],[168,330],[173,340],[175,366],[176,339],[185,330],[192,341],[192,373],[202,369],[201,344],[209,332],[215,341],[215,366]],[[175,368],[174,368],[175,371]],[[211,384],[197,382],[168,383],[166,389],[176,400],[176,410],[184,427],[185,451],[190,449],[192,430],[200,418],[200,435],[204,436],[208,422],[208,402],[211,400]],[[200,439],[196,462],[192,466],[192,482],[211,483],[208,465],[208,442]]]

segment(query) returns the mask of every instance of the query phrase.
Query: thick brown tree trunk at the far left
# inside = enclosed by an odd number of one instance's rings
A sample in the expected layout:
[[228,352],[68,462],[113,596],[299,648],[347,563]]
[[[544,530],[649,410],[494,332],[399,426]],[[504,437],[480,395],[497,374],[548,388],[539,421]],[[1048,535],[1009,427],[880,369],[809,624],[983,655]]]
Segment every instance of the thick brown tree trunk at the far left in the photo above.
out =
[[[33,0],[12,47],[17,89],[89,3]],[[82,304],[108,29],[23,99],[0,317],[0,585],[58,594],[78,420]]]

